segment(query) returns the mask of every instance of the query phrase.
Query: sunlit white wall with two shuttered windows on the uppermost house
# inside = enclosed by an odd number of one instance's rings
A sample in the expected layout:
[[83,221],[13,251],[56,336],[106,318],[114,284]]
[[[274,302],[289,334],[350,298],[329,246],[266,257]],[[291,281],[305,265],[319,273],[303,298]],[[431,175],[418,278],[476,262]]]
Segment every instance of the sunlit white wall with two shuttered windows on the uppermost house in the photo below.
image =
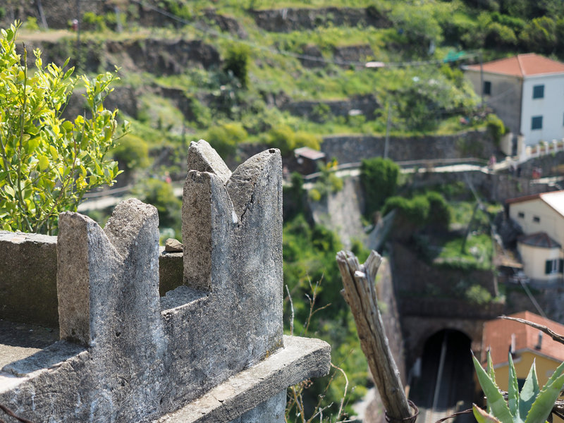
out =
[[[533,87],[544,85],[544,97],[533,99]],[[542,116],[542,128],[532,130],[533,116]],[[564,75],[528,76],[523,81],[521,132],[525,144],[551,142],[564,137]]]

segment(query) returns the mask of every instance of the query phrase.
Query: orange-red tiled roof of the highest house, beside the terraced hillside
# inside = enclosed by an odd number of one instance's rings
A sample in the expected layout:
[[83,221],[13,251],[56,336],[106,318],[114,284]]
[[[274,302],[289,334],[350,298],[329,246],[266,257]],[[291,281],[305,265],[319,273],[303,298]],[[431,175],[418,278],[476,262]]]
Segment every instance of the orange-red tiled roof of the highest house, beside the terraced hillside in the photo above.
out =
[[[517,56],[499,59],[482,64],[484,72],[500,73],[501,75],[532,76],[548,73],[564,73],[564,63],[548,59],[538,54],[518,54]],[[479,71],[480,66],[470,65],[467,69]]]

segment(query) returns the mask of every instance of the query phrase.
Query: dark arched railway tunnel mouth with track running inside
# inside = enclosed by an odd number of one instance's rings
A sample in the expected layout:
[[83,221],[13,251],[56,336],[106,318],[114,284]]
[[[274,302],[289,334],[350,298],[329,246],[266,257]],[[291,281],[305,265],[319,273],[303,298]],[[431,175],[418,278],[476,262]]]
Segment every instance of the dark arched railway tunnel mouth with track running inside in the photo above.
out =
[[[419,407],[417,422],[434,423],[472,407],[474,367],[470,345],[465,333],[453,329],[443,329],[427,339],[423,355],[412,369],[410,399]],[[471,414],[455,419],[457,423],[473,421]]]

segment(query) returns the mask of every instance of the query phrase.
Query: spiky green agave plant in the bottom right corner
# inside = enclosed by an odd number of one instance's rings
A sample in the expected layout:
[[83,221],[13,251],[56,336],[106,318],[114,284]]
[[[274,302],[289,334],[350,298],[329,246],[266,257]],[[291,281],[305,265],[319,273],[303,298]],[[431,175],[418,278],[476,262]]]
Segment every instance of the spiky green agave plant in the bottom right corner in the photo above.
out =
[[488,353],[488,365],[484,370],[479,361],[472,355],[478,381],[486,396],[487,411],[476,404],[473,405],[474,417],[478,423],[545,423],[551,414],[554,402],[560,395],[564,385],[564,363],[560,364],[542,389],[539,389],[537,370],[534,362],[529,370],[521,392],[517,387],[517,376],[513,359],[509,354],[508,400],[496,385],[494,366]]

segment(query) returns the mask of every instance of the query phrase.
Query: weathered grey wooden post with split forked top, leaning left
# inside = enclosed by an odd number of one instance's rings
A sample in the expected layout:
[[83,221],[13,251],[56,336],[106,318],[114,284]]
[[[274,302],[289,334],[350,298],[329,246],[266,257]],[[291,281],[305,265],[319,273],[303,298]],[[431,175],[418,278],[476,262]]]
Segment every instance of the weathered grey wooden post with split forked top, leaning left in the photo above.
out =
[[380,393],[386,419],[391,422],[415,422],[400,380],[400,372],[393,360],[388,338],[376,298],[374,278],[381,263],[380,255],[372,250],[364,264],[352,252],[337,253],[337,264],[343,278],[343,295],[355,317],[362,352]]

